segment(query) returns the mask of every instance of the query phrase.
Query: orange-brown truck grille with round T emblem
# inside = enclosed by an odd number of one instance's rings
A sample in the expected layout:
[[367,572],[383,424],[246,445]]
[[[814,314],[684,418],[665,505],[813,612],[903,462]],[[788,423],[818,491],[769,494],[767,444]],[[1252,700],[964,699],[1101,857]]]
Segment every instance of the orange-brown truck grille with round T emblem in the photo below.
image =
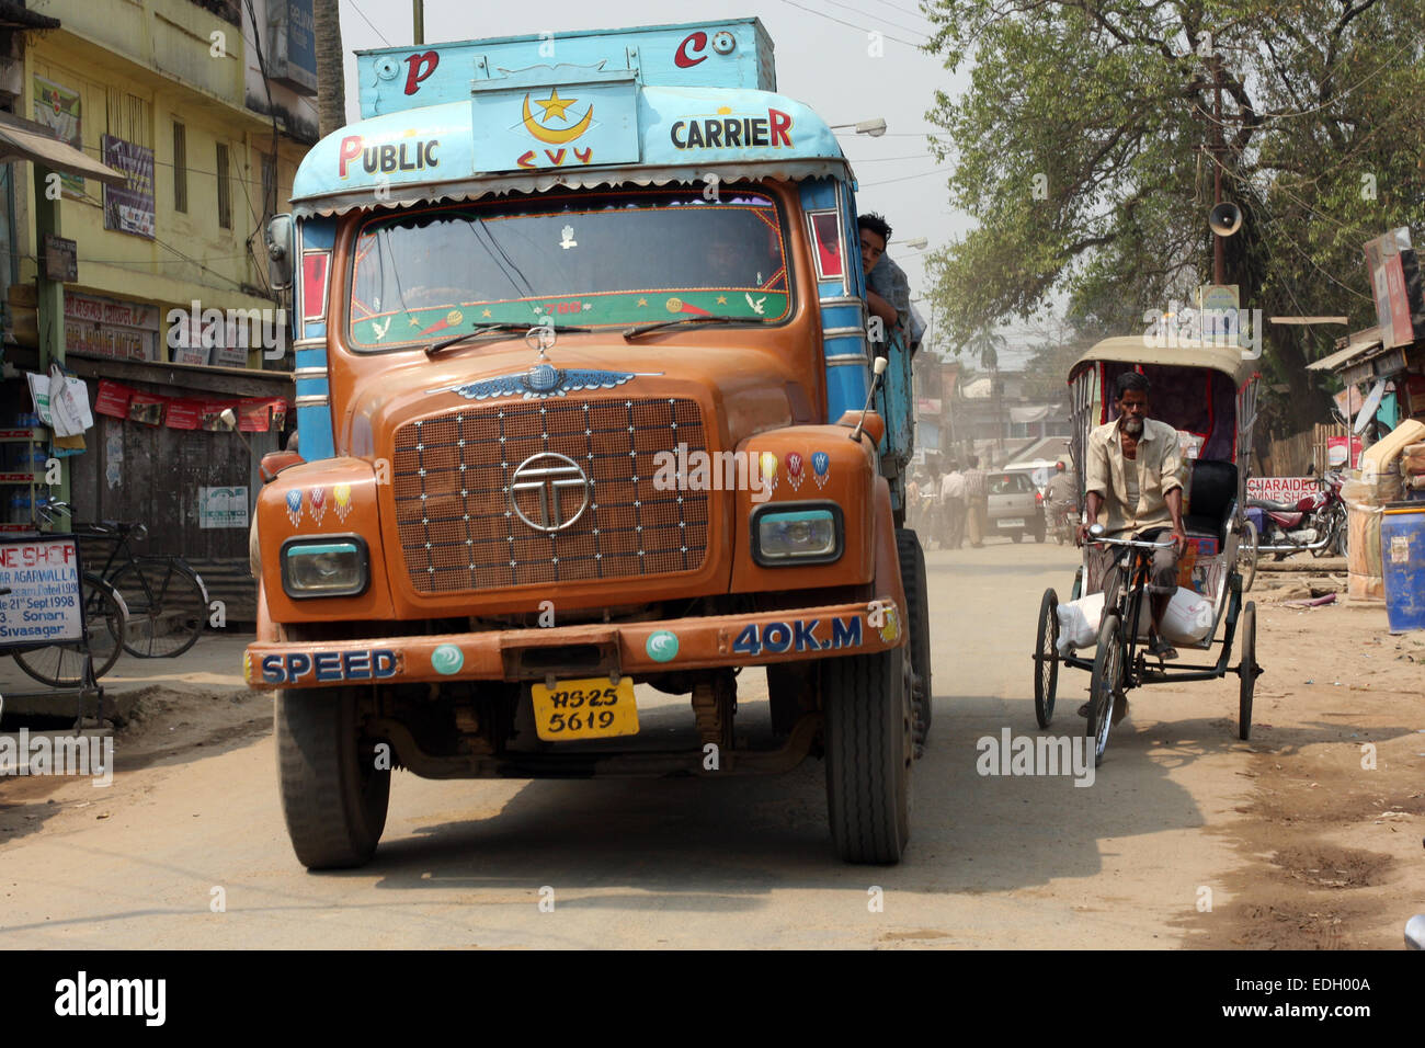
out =
[[457,593],[697,570],[707,492],[654,486],[654,455],[680,443],[707,449],[694,401],[479,405],[400,426],[392,481],[410,585]]

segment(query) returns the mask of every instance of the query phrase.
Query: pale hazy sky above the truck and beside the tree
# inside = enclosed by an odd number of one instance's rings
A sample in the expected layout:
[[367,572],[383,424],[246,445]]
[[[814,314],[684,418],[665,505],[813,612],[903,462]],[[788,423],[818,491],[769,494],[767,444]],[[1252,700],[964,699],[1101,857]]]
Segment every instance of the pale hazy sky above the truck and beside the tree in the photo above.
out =
[[[777,86],[809,104],[828,124],[884,117],[886,134],[842,134],[846,157],[861,184],[862,211],[879,211],[893,228],[892,241],[925,237],[931,247],[963,234],[972,221],[948,202],[948,167],[936,167],[926,144],[935,128],[925,120],[936,88],[956,94],[968,78],[950,77],[938,57],[919,50],[929,23],[916,0],[426,0],[426,43],[477,37],[539,34],[553,30],[620,29],[677,21],[758,17],[775,46]],[[410,0],[341,0],[346,50],[346,110],[359,117],[356,61],[352,51],[406,46],[413,40]],[[846,23],[846,24],[842,24]],[[868,33],[884,34],[884,57],[871,57]],[[919,252],[891,254],[922,294]],[[922,304],[922,314],[928,305]],[[1015,329],[1006,329],[1010,342]],[[1016,356],[1016,354],[1009,354]]]

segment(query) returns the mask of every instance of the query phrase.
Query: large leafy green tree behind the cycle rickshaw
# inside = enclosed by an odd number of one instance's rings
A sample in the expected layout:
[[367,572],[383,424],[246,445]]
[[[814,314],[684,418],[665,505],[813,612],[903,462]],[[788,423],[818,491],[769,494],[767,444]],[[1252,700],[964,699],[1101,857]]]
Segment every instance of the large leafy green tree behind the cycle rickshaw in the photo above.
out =
[[[1425,0],[938,0],[928,16],[928,47],[972,66],[928,114],[949,133],[932,148],[955,163],[952,202],[980,217],[929,260],[946,338],[1050,295],[1114,334],[1190,302],[1211,279],[1217,165],[1245,215],[1226,241],[1244,308],[1375,322],[1362,244],[1425,218]],[[1265,325],[1282,425],[1324,416],[1305,364],[1342,334]]]

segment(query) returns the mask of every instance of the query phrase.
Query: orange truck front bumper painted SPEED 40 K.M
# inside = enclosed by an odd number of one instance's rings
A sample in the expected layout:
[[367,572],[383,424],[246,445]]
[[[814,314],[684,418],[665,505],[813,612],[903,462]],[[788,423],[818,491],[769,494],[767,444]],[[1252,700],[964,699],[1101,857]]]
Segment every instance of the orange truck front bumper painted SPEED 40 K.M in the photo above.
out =
[[259,642],[249,687],[650,676],[864,654],[905,643],[891,597],[750,615],[322,642]]

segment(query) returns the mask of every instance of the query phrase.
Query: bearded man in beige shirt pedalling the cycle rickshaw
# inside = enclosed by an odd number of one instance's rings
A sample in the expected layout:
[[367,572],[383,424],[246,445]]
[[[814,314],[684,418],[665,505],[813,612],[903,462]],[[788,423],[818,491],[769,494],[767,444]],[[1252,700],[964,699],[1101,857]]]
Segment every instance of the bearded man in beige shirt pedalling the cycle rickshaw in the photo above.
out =
[[[1157,542],[1171,530],[1173,546],[1154,550],[1149,575],[1151,633],[1149,652],[1176,659],[1177,652],[1163,639],[1160,626],[1168,602],[1177,592],[1177,560],[1187,549],[1183,528],[1181,455],[1177,431],[1149,418],[1149,381],[1134,371],[1119,375],[1116,396],[1119,418],[1089,433],[1084,458],[1087,519],[1102,523],[1109,538],[1133,536]],[[1079,526],[1079,543],[1089,539],[1089,526]],[[1113,565],[1113,546],[1090,550],[1094,577]]]

